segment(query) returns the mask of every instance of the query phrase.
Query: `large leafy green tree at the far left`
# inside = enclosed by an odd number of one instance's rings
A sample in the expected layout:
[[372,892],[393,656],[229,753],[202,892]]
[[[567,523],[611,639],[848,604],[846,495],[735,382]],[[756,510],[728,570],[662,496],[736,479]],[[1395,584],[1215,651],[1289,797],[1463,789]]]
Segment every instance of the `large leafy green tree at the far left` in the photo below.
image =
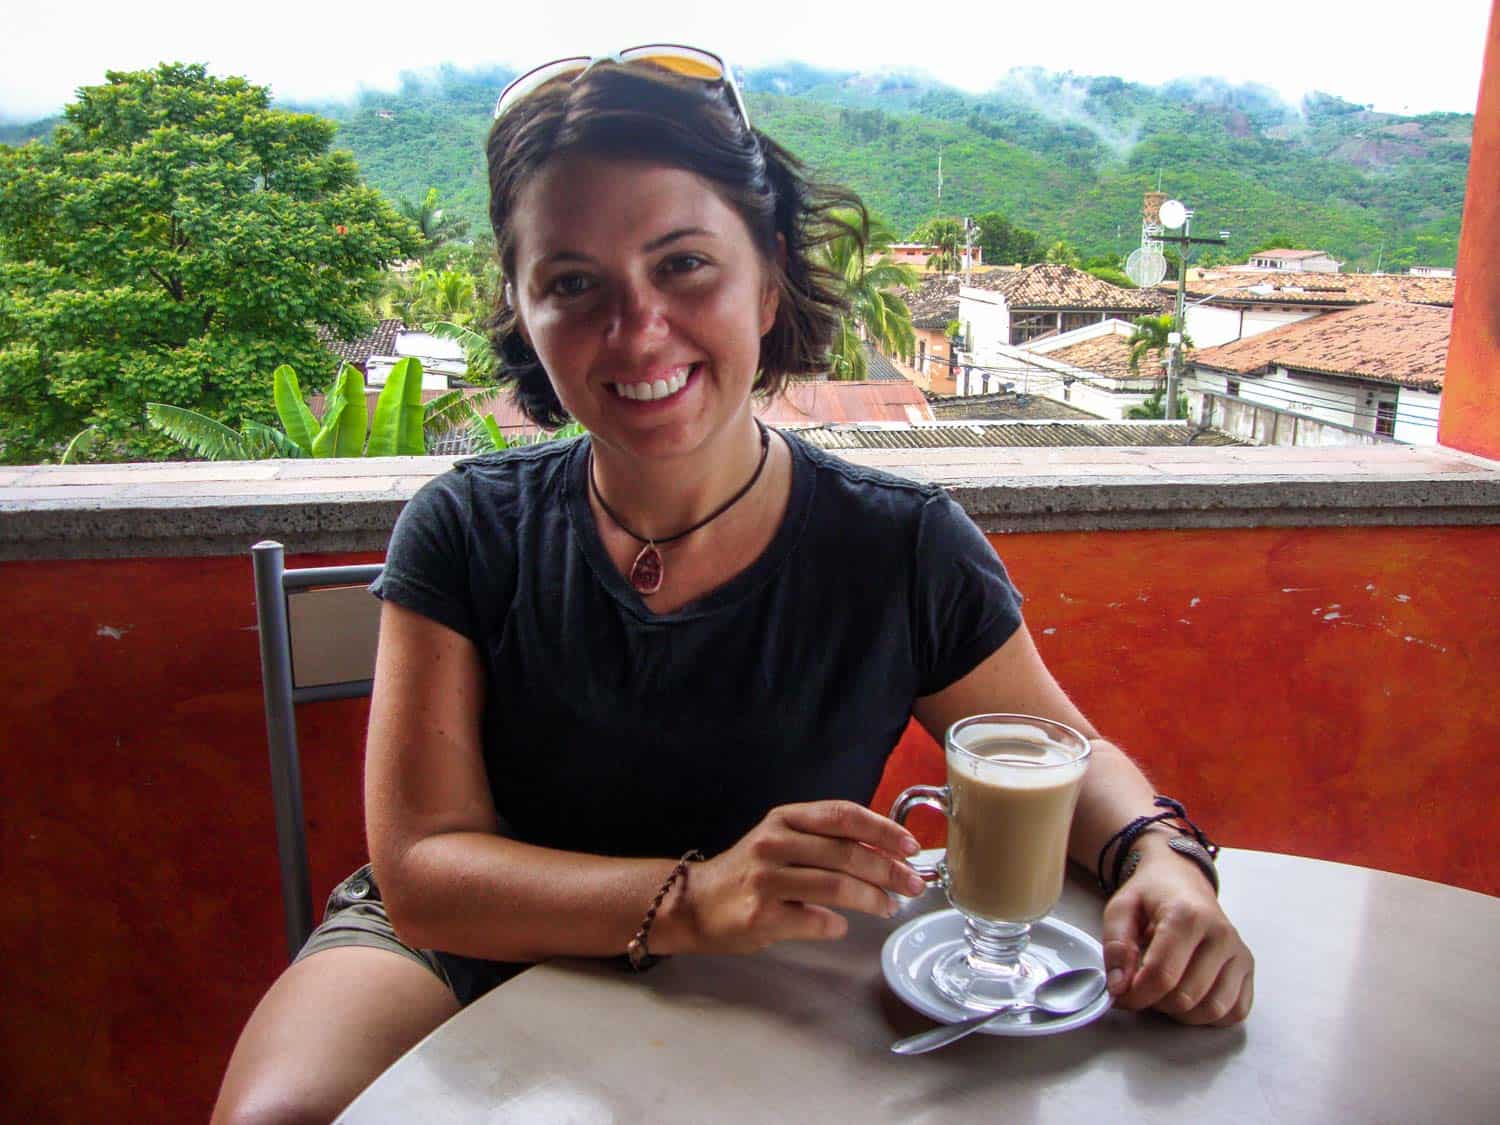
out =
[[363,303],[417,234],[330,152],[334,126],[198,64],[108,72],[46,141],[0,147],[0,459],[98,428],[111,456],[174,452],[174,400],[270,420],[264,372],[327,375],[318,326]]

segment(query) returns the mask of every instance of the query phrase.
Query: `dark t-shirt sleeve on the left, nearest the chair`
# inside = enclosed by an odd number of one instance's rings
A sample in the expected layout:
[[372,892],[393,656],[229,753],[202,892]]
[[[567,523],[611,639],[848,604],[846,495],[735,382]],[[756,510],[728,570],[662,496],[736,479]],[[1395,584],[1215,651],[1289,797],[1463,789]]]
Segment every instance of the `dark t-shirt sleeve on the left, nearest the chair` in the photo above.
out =
[[396,518],[386,567],[370,592],[478,640],[470,597],[466,478],[444,472],[423,484]]

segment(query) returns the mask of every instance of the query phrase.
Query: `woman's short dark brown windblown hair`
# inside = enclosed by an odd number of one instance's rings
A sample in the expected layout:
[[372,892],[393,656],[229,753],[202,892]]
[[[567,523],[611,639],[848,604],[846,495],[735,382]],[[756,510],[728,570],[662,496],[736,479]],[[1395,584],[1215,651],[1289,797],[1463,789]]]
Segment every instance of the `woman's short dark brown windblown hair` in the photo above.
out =
[[[522,186],[564,153],[682,168],[708,180],[744,219],[772,272],[780,300],[760,339],[754,390],[776,394],[790,375],[826,363],[844,312],[840,279],[813,250],[852,234],[862,254],[868,213],[856,195],[810,180],[801,162],[758,129],[747,129],[718,82],[681,78],[648,64],[598,63],[572,82],[552,82],[507,111],[490,129],[489,220],[507,282],[516,276],[513,216]],[[784,240],[780,261],[777,236]],[[514,384],[520,410],[538,426],[568,420],[514,309],[496,294],[488,321],[501,380]]]

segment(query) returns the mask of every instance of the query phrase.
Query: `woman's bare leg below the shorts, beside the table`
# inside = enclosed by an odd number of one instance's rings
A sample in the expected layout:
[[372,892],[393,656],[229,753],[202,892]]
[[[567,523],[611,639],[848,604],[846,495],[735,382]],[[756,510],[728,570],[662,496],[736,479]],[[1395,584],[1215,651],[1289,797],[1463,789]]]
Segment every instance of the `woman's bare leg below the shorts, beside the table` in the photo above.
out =
[[458,1010],[436,974],[398,952],[351,945],[304,957],[240,1032],[213,1125],[328,1122]]

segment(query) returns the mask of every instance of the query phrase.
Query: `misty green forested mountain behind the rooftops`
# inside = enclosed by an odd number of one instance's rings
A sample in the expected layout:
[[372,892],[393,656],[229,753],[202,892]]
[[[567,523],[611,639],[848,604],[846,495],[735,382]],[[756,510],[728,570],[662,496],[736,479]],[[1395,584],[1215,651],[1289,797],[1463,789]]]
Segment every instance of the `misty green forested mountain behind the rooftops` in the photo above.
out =
[[[483,142],[508,76],[447,69],[298,108],[339,123],[336,142],[372,184],[406,200],[436,188],[483,231]],[[1470,114],[1401,117],[1332,94],[1293,106],[1216,80],[1148,87],[1030,69],[986,94],[804,64],[752,70],[746,88],[758,126],[903,234],[939,214],[1002,212],[1044,243],[1124,256],[1140,237],[1142,194],[1160,183],[1196,208],[1197,231],[1232,231],[1226,260],[1269,242],[1365,270],[1452,266],[1458,252]],[[8,126],[4,140],[33,132]]]

